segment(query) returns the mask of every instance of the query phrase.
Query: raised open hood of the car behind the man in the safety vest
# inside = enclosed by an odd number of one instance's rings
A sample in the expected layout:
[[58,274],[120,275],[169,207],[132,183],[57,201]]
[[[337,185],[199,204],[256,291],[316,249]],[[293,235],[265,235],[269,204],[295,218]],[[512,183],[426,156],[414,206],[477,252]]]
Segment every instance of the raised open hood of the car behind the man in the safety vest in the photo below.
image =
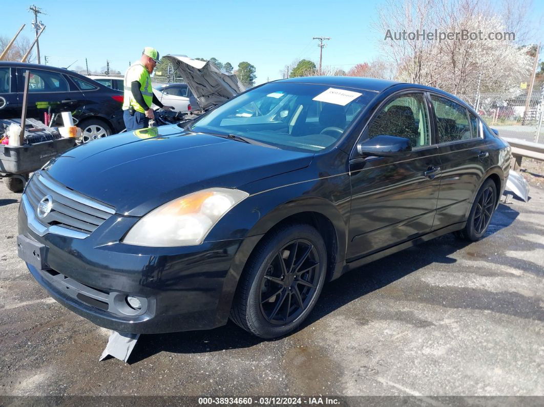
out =
[[236,75],[221,72],[212,62],[199,61],[187,55],[166,55],[164,58],[185,80],[202,110],[223,104],[245,91]]

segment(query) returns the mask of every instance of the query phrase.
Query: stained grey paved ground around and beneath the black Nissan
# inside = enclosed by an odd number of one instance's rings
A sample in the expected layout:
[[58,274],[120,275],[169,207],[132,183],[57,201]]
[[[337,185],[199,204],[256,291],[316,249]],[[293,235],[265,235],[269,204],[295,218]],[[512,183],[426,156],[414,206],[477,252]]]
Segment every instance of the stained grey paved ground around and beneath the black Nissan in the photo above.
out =
[[109,331],[30,277],[0,181],[0,395],[544,396],[544,189],[530,196],[479,242],[442,236],[333,281],[288,337],[144,335],[127,365],[98,362]]

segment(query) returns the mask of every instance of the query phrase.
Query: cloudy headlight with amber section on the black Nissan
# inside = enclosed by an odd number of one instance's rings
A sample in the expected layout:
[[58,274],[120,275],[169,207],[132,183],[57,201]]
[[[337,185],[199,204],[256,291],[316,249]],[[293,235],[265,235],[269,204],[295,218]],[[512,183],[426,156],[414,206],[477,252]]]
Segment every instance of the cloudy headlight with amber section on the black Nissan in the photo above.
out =
[[210,188],[174,199],[141,218],[122,241],[156,247],[200,245],[221,217],[248,196],[235,189]]

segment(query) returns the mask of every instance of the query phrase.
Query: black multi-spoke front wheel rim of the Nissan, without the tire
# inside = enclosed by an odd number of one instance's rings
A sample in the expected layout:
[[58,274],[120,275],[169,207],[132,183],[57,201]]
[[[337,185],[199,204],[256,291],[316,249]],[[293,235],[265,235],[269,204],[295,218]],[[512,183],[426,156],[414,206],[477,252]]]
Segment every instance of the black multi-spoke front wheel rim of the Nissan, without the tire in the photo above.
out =
[[265,320],[293,322],[308,308],[319,282],[319,256],[307,240],[293,240],[274,256],[261,283],[259,303]]

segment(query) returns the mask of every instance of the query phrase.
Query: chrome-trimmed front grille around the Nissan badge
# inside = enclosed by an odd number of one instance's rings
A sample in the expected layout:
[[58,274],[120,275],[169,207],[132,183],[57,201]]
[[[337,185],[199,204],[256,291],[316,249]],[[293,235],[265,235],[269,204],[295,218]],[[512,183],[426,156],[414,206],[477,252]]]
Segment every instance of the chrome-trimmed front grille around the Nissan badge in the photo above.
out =
[[47,174],[36,173],[24,192],[36,214],[42,199],[51,197],[51,211],[36,219],[46,227],[61,227],[91,234],[115,213],[115,209],[59,184]]

